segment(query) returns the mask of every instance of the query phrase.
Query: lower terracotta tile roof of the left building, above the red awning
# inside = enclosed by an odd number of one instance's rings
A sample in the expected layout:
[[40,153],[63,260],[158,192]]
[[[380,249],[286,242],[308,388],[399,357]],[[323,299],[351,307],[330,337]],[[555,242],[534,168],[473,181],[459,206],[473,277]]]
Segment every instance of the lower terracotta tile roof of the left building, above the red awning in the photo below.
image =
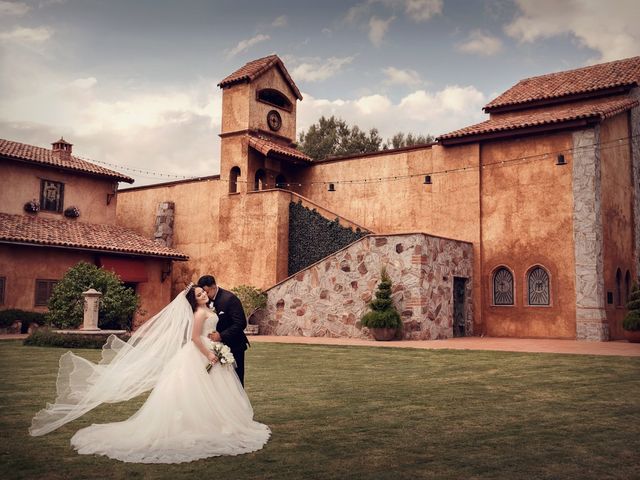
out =
[[0,213],[0,243],[32,243],[70,249],[102,250],[174,260],[189,257],[173,248],[156,244],[118,225],[83,223]]

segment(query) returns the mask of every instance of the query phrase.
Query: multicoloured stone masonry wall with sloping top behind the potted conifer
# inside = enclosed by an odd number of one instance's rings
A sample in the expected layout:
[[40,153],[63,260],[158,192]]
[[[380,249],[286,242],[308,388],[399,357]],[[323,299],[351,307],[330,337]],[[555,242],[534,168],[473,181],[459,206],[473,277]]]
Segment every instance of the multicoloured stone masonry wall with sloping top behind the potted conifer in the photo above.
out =
[[454,276],[468,279],[465,330],[472,334],[472,244],[422,233],[367,236],[272,287],[260,333],[371,338],[360,318],[383,266],[393,282],[402,338],[453,336]]

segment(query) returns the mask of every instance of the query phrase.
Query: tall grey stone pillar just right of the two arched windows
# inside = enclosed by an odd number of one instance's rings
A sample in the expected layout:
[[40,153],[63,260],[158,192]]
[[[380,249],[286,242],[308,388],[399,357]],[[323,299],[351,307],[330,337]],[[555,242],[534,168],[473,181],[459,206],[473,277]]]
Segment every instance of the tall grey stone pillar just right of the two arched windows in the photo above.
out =
[[600,127],[575,132],[573,152],[576,339],[606,341]]

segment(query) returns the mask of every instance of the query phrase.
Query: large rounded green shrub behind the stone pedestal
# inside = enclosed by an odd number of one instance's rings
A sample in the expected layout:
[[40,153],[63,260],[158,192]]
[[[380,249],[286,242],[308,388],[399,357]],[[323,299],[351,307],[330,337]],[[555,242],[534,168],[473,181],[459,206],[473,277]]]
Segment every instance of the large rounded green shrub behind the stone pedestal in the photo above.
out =
[[131,318],[138,308],[139,297],[107,270],[80,262],[71,267],[53,289],[49,299],[47,322],[58,328],[77,328],[84,318],[82,292],[94,288],[102,293],[98,311],[98,327],[130,329]]

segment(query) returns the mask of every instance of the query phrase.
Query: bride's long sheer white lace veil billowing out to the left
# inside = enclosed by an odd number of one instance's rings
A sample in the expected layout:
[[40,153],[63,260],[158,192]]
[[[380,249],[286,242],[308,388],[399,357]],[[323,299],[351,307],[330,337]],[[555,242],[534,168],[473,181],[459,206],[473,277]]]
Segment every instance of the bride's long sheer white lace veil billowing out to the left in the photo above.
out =
[[32,436],[44,435],[101,403],[129,400],[152,389],[162,369],[191,339],[193,311],[185,290],[148,320],[126,343],[111,335],[102,359],[93,363],[67,352],[60,358],[57,396],[31,422]]

